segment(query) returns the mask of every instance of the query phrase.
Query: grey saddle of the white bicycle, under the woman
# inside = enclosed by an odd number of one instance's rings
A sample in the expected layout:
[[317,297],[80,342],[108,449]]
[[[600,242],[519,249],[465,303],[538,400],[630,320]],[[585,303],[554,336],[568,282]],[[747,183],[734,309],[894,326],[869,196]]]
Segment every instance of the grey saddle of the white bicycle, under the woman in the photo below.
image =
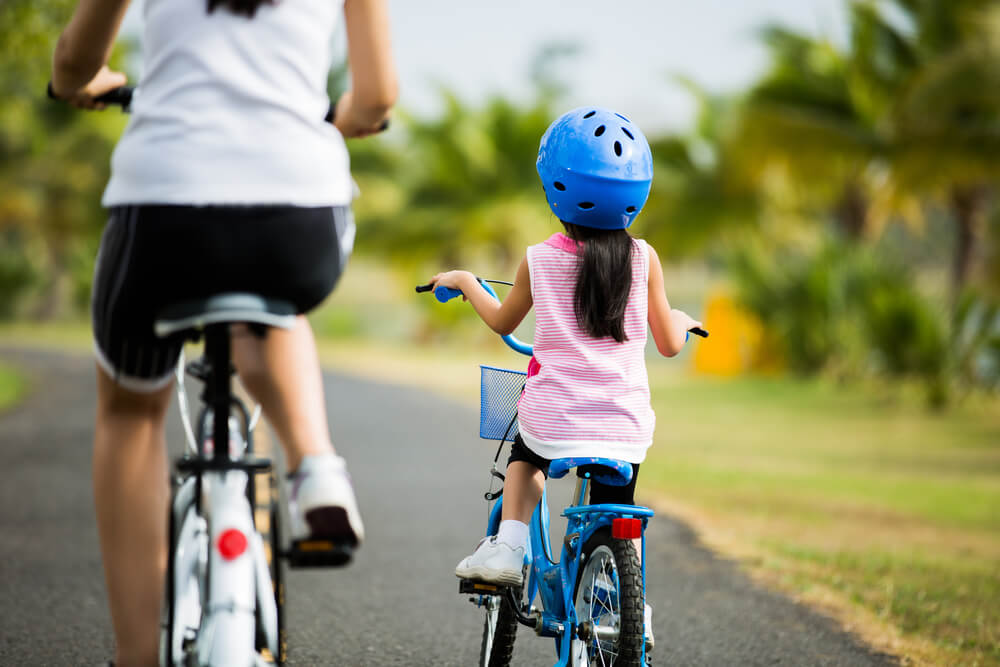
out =
[[252,322],[291,329],[295,324],[295,314],[295,306],[288,301],[259,294],[228,292],[167,306],[157,313],[153,331],[163,338],[223,322]]

